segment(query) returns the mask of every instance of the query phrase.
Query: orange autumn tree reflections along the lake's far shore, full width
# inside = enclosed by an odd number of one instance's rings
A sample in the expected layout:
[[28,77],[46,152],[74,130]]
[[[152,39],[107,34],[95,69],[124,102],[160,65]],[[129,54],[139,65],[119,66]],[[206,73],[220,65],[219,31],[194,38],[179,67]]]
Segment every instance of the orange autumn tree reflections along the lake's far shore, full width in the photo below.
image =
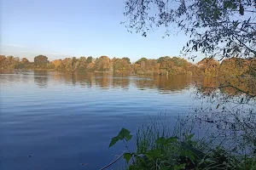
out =
[[127,89],[136,87],[141,90],[156,88],[163,94],[181,92],[191,87],[198,88],[204,94],[212,93],[219,87],[223,87],[219,88],[222,93],[230,95],[237,95],[242,92],[255,95],[256,92],[256,80],[237,77],[131,77],[129,75],[113,75],[109,73],[30,71],[21,74],[9,74],[9,77],[2,76],[1,82],[2,84],[17,81],[27,82],[32,78],[38,88],[47,88],[48,82],[51,81],[58,84],[64,83],[68,86],[80,86],[81,88]]

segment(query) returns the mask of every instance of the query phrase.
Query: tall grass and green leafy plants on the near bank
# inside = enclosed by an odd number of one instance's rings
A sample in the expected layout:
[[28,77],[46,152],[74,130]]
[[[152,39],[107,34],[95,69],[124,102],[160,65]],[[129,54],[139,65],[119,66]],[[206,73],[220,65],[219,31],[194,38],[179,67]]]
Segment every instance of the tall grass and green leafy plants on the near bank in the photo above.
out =
[[112,145],[119,140],[124,141],[126,168],[131,170],[256,170],[256,153],[234,154],[223,143],[218,143],[219,137],[195,137],[193,123],[189,118],[179,118],[172,131],[160,120],[143,125],[137,129],[137,147],[132,151],[126,145],[131,133],[123,128],[113,138]]

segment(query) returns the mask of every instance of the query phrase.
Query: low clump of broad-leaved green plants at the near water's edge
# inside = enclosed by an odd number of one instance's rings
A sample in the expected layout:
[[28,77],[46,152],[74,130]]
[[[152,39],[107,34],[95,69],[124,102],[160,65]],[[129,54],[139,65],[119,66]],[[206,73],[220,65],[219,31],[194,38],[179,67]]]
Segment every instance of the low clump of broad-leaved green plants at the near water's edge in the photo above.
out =
[[[159,129],[156,131],[159,132]],[[148,134],[151,136],[147,136]],[[132,139],[131,132],[122,128],[119,134],[113,137],[109,147],[119,141],[124,142],[126,151],[123,157],[127,169],[130,170],[256,169],[255,156],[233,156],[221,146],[201,149],[203,147],[199,147],[200,144],[195,141],[194,134],[183,134],[183,139],[168,136],[166,133],[159,134],[153,132],[152,128],[141,129],[136,136],[137,150],[131,151],[127,146],[127,142]],[[151,140],[155,136],[157,138]],[[145,147],[146,145],[148,147]]]

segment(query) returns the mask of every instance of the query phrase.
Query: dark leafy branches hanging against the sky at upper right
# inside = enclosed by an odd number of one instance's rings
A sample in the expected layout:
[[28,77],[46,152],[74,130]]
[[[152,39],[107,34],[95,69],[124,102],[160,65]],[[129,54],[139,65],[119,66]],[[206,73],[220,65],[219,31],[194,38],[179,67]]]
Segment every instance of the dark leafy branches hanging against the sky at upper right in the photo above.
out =
[[254,0],[125,0],[128,31],[147,36],[154,28],[183,31],[189,36],[183,53],[201,51],[221,57],[255,57]]

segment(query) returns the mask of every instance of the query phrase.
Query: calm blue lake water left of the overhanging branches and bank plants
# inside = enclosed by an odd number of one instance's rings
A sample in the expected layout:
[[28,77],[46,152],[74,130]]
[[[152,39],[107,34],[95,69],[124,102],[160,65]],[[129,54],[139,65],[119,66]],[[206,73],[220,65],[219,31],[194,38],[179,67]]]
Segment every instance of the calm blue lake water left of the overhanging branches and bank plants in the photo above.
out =
[[160,112],[173,127],[195,103],[193,77],[25,72],[0,81],[3,170],[99,169],[124,150],[108,149],[121,127],[135,133]]

